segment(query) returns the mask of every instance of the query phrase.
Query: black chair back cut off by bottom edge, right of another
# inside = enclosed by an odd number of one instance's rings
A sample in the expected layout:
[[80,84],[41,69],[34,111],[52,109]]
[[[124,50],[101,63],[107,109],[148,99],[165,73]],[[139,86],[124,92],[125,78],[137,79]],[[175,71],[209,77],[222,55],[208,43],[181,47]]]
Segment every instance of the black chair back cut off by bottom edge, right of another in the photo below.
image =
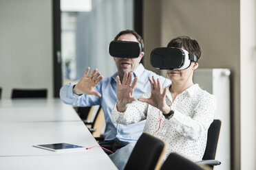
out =
[[162,164],[161,170],[204,170],[204,168],[196,165],[191,160],[180,156],[179,154],[171,153],[167,160]]

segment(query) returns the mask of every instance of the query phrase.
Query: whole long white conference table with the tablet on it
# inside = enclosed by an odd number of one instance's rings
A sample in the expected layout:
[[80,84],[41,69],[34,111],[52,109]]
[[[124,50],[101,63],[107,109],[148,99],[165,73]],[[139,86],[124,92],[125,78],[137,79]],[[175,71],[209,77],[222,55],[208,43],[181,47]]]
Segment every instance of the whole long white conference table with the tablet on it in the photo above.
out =
[[100,147],[55,152],[32,146],[98,146],[72,106],[59,99],[0,101],[0,136],[0,169],[116,169]]

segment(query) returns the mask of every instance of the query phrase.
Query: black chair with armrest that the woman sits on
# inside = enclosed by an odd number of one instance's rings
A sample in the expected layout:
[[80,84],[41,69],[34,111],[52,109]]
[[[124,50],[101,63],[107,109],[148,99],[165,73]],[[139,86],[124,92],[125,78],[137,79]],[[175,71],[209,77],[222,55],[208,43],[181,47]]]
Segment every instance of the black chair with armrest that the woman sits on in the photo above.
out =
[[219,119],[214,119],[213,123],[211,123],[208,130],[207,143],[206,143],[206,149],[204,151],[204,156],[202,160],[198,162],[200,164],[209,165],[211,169],[213,169],[215,165],[221,164],[219,160],[215,160],[217,143],[219,141],[221,126],[222,126],[222,121],[220,121]]

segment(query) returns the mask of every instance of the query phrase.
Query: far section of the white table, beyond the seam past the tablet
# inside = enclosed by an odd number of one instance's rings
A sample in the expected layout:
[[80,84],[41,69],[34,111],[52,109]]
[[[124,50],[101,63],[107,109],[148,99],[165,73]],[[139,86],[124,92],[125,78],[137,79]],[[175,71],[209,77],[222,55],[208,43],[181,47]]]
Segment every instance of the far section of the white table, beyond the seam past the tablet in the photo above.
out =
[[81,121],[60,99],[0,100],[0,122]]

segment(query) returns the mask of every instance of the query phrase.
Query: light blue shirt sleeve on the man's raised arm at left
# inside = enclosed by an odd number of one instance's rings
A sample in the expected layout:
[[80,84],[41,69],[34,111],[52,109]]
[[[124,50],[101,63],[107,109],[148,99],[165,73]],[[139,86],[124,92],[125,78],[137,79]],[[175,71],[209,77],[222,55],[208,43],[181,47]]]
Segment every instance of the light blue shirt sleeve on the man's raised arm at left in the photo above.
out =
[[[64,104],[70,104],[72,106],[94,106],[100,104],[100,97],[95,95],[76,95],[73,93],[74,83],[65,84],[61,87],[60,97]],[[101,94],[100,83],[96,86],[96,91]]]

